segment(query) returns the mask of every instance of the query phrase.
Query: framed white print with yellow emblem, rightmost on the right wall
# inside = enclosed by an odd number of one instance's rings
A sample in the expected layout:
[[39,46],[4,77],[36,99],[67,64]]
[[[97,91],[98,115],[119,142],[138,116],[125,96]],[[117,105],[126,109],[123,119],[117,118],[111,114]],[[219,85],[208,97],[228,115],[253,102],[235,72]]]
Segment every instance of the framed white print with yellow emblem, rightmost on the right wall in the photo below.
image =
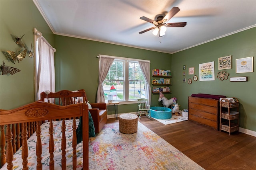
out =
[[236,59],[236,73],[253,72],[253,57]]

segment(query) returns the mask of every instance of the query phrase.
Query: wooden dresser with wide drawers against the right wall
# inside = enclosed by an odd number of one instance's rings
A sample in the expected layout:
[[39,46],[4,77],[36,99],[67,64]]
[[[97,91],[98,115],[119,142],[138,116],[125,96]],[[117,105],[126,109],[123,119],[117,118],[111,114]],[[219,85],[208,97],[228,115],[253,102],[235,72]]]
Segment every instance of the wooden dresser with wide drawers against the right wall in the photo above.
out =
[[188,97],[188,119],[219,129],[219,100]]

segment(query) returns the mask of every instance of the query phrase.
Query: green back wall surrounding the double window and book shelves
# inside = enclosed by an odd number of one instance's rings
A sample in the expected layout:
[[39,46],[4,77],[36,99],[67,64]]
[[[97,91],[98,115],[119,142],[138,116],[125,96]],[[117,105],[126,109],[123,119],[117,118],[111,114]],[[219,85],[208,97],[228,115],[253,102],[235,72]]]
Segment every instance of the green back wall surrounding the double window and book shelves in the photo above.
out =
[[[99,54],[150,60],[150,69],[170,70],[172,65],[171,54],[121,45],[61,35],[54,35],[54,45],[56,48],[56,90],[85,89],[90,103],[96,102],[98,88],[98,58],[96,56]],[[166,94],[166,97],[170,98],[171,94]],[[162,102],[158,102],[158,98],[158,94],[152,94],[152,106],[162,104]],[[134,111],[138,111],[138,104],[118,106],[118,113]],[[108,114],[113,113],[114,111],[108,111]]]

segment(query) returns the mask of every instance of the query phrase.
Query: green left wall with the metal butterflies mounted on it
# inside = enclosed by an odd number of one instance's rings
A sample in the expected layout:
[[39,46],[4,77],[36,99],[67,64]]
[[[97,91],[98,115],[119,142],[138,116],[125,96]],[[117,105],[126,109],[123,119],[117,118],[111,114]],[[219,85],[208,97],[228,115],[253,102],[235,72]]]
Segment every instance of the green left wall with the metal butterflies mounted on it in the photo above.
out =
[[[18,45],[10,34],[22,36],[22,42],[30,49],[34,44],[33,29],[41,31],[45,39],[54,45],[54,36],[32,0],[0,0],[0,50],[18,51]],[[20,63],[8,62],[0,52],[0,63],[18,68],[21,72],[0,75],[0,109],[13,109],[34,102],[34,58],[28,57]]]

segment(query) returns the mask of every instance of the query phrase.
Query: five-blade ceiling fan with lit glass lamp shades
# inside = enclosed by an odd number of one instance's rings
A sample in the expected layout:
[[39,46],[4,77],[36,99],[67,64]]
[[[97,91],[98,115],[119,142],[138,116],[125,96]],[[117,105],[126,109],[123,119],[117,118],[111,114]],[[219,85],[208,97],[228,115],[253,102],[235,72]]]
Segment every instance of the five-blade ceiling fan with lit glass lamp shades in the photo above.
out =
[[150,31],[152,29],[155,29],[152,33],[154,35],[158,35],[159,37],[162,37],[165,35],[166,27],[185,27],[187,25],[186,22],[175,22],[175,23],[166,23],[168,20],[170,20],[175,14],[177,14],[180,11],[180,8],[173,7],[166,16],[158,16],[156,20],[151,20],[147,17],[140,17],[141,20],[153,23],[155,26],[145,29],[144,31],[140,31],[139,33],[145,33],[147,31]]

